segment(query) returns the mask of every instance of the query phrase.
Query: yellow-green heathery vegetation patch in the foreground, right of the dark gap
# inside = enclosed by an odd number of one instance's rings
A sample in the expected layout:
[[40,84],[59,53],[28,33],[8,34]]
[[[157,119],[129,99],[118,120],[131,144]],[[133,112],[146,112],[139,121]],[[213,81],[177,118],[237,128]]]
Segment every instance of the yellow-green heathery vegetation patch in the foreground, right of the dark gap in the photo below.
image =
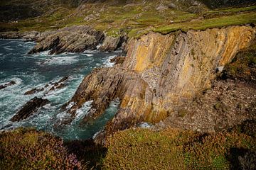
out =
[[107,145],[105,169],[230,169],[234,164],[242,166],[238,157],[245,152],[255,152],[256,140],[233,131],[130,129],[117,132]]

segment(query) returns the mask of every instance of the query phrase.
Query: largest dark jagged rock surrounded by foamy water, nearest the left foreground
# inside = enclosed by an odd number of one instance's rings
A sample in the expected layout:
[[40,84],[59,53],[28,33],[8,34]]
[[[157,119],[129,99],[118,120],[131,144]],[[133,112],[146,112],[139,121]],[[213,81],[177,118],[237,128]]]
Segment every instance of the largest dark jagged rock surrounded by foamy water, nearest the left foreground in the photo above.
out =
[[32,98],[31,101],[28,101],[20,111],[18,111],[10,121],[17,122],[28,118],[33,115],[40,109],[45,106],[47,103],[50,103],[47,99],[43,98]]

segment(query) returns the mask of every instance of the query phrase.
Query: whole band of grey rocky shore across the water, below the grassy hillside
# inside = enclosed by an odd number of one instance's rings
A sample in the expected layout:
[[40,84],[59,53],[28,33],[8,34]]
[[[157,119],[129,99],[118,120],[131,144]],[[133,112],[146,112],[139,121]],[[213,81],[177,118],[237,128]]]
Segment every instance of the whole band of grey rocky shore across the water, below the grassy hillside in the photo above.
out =
[[50,51],[49,54],[60,54],[63,52],[84,52],[85,50],[99,50],[111,52],[123,47],[127,42],[127,35],[107,36],[99,30],[90,26],[72,26],[53,31],[39,33],[32,32],[4,32],[0,33],[4,39],[25,39],[35,41],[37,44],[28,54]]

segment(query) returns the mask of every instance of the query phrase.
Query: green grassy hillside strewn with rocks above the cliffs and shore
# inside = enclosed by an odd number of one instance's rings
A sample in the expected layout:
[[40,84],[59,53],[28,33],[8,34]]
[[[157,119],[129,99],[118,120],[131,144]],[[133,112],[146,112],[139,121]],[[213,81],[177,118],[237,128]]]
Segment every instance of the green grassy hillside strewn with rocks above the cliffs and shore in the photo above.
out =
[[[166,5],[166,4],[164,4]],[[105,30],[109,35],[118,35],[120,30],[130,37],[139,37],[150,30],[170,33],[175,30],[204,30],[206,28],[256,23],[256,6],[222,8],[209,10],[206,6],[195,7],[192,13],[190,4],[176,4],[176,8],[156,10],[158,2],[135,5],[86,3],[78,8],[61,5],[49,10],[43,16],[28,18],[18,23],[1,23],[0,28],[27,30],[52,30],[73,25],[90,25]],[[199,10],[199,11],[198,11]],[[188,12],[189,11],[189,12]]]

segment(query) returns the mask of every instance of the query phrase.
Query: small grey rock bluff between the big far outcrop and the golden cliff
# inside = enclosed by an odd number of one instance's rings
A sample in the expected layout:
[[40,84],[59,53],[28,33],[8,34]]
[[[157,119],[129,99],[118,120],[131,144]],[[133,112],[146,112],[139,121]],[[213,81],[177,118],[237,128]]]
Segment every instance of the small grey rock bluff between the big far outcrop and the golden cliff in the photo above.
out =
[[100,46],[101,51],[114,51],[117,50],[119,47],[122,47],[123,43],[127,40],[125,36],[107,36],[105,38],[102,46]]

